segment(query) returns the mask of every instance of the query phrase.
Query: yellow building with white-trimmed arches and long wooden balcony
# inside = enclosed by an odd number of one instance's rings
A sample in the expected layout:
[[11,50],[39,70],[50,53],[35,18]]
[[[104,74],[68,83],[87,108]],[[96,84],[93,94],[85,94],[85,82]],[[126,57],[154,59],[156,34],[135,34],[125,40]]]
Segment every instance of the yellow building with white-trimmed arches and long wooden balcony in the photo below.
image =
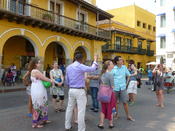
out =
[[96,0],[0,0],[0,64],[24,68],[34,56],[45,67],[69,64],[76,51],[86,61],[94,53],[102,60],[101,46],[111,34],[96,22],[112,17]]

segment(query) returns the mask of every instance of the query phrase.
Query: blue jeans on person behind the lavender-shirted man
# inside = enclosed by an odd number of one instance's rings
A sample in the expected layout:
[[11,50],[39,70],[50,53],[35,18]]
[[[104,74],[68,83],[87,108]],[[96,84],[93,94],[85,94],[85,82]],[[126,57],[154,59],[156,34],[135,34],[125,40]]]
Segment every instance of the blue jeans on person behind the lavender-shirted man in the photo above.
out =
[[97,100],[98,88],[97,87],[90,87],[90,88],[91,88],[91,97],[92,97],[92,107],[94,109],[98,109],[98,100]]

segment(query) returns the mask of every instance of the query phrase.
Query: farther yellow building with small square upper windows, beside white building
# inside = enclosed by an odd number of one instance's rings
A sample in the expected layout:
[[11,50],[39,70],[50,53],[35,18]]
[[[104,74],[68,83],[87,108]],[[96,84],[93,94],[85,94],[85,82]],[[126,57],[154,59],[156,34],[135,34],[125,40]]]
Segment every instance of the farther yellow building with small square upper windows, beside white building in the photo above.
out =
[[122,56],[126,62],[134,60],[137,67],[155,61],[155,15],[136,6],[107,11],[112,21],[99,21],[99,26],[112,32],[112,40],[103,46],[103,58]]

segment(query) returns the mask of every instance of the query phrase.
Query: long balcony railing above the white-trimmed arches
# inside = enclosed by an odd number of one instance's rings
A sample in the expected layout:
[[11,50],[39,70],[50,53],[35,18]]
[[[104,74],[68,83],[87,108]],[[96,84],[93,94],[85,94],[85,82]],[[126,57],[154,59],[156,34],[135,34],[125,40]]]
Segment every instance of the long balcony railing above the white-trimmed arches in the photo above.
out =
[[[56,26],[68,28],[106,40],[111,39],[110,31],[97,28],[87,23],[82,23],[66,16],[58,15],[51,11],[27,3],[17,2],[17,0],[9,0],[9,3],[7,3],[7,0],[0,0],[0,11],[7,11],[11,14],[15,14],[16,16],[33,18],[35,20],[40,20],[49,24],[54,24]],[[93,38],[94,37],[92,37],[92,39]]]

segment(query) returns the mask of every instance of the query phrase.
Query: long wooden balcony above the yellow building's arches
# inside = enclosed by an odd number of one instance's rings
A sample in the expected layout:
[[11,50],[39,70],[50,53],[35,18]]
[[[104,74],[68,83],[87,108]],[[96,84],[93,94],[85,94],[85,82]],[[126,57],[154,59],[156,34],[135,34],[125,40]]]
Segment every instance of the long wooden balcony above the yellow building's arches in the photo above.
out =
[[46,30],[79,36],[90,40],[108,41],[111,32],[51,11],[21,2],[0,0],[0,19],[31,25]]

